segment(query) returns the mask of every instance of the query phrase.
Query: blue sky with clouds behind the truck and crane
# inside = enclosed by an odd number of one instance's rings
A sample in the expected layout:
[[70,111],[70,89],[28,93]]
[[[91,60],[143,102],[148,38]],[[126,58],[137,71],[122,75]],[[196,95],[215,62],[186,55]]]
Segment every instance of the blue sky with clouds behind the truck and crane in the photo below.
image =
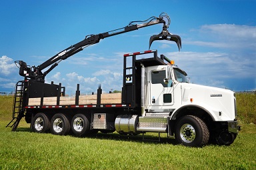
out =
[[[191,83],[256,89],[256,1],[0,1],[0,91],[13,91],[22,80],[14,61],[40,65],[86,35],[125,27],[130,21],[171,18],[169,32],[182,48],[154,41],[157,49],[184,69]],[[121,90],[123,54],[145,51],[162,25],[109,37],[61,61],[46,77],[70,94]]]

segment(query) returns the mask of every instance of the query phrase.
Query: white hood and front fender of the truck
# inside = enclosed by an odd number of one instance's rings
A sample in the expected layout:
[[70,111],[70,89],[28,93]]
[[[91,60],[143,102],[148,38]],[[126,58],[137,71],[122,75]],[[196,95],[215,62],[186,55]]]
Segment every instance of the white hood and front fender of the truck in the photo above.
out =
[[215,121],[235,119],[235,95],[229,89],[181,83],[181,99],[182,105],[195,105],[210,112]]

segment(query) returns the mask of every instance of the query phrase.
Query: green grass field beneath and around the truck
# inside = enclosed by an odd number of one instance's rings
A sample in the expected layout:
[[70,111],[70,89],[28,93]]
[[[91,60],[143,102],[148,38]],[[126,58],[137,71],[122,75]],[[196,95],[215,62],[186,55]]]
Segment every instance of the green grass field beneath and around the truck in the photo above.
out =
[[256,112],[255,106],[246,108],[255,105],[252,96],[237,95],[242,130],[235,142],[200,148],[177,145],[165,134],[154,141],[157,133],[146,133],[147,141],[118,133],[84,138],[32,133],[24,119],[11,132],[5,128],[11,97],[0,97],[0,169],[255,169]]

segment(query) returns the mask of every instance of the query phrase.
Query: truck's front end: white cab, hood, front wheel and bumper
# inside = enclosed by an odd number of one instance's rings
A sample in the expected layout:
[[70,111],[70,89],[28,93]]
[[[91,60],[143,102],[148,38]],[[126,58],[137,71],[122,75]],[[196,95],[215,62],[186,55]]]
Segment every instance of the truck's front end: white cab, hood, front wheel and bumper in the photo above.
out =
[[[239,129],[233,91],[189,83],[187,73],[174,65],[174,61],[145,67],[145,72],[145,117],[167,117],[170,135],[175,134],[179,143],[185,145],[193,143],[199,133],[217,143],[233,143]],[[197,133],[194,122],[204,129]]]

